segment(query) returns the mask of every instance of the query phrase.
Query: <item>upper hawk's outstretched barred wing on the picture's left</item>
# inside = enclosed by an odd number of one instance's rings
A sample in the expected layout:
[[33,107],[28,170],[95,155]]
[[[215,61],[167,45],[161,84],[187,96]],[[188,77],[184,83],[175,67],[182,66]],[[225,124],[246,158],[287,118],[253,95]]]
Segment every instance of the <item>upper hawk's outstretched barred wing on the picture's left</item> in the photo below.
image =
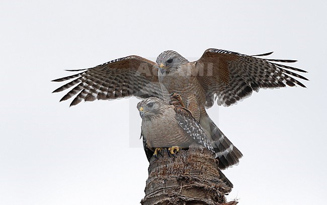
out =
[[158,82],[156,63],[139,56],[127,56],[89,69],[68,70],[83,71],[52,81],[61,82],[73,79],[53,92],[71,88],[60,101],[74,95],[70,106],[82,100],[117,99],[128,96],[162,98]]

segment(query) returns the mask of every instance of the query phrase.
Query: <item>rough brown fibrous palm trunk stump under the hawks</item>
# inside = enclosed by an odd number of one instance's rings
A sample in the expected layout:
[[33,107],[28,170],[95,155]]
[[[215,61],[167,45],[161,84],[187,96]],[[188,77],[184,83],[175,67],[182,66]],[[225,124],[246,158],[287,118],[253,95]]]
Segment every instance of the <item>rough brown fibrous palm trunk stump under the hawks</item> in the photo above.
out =
[[236,201],[226,203],[224,195],[231,187],[220,178],[217,165],[218,161],[205,148],[190,147],[176,157],[163,151],[163,156],[150,160],[141,204],[236,204]]

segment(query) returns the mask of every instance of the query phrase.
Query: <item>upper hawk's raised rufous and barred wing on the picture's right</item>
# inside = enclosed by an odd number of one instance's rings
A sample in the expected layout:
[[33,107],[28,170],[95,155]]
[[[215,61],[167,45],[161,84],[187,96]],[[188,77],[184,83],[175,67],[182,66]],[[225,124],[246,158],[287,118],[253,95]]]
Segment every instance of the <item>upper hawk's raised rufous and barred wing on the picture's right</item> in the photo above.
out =
[[[292,63],[296,60],[264,59],[262,56],[248,56],[231,51],[207,49],[202,57],[195,62],[199,82],[206,93],[206,107],[212,107],[215,100],[218,105],[230,106],[238,100],[248,97],[252,91],[260,88],[277,88],[300,85],[307,78],[292,72],[304,70],[282,65],[276,62]],[[259,56],[259,57],[256,57]]]

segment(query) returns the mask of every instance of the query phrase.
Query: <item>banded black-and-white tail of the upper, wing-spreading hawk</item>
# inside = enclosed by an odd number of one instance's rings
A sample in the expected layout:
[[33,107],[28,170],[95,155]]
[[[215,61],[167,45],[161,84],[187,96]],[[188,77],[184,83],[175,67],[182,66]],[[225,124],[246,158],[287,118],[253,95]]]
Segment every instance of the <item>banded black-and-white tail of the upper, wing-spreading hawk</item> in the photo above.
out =
[[[229,166],[238,164],[239,159],[243,156],[242,153],[227,139],[208,115],[205,117],[201,116],[200,121],[203,120],[206,125],[210,126],[208,137],[216,153],[215,158],[219,160],[218,167],[220,169],[225,169]],[[203,125],[201,122],[200,124]]]

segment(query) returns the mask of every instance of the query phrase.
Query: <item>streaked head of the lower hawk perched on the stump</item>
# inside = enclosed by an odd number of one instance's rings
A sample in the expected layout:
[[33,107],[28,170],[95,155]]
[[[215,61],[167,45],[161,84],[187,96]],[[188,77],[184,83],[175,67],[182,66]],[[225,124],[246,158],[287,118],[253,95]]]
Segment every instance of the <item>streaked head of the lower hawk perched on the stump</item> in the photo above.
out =
[[137,104],[137,109],[140,112],[141,118],[154,117],[162,114],[167,107],[166,103],[158,97],[149,97],[143,99]]

